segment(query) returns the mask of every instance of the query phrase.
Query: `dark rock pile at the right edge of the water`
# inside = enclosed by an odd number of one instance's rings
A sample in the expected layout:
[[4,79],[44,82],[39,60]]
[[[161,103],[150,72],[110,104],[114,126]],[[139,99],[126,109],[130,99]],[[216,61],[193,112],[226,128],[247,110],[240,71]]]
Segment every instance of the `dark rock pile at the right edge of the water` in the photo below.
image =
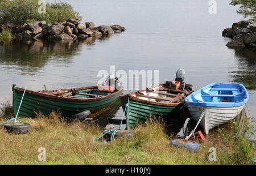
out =
[[256,22],[242,20],[233,23],[232,28],[226,28],[222,36],[232,38],[226,46],[229,48],[256,48]]

